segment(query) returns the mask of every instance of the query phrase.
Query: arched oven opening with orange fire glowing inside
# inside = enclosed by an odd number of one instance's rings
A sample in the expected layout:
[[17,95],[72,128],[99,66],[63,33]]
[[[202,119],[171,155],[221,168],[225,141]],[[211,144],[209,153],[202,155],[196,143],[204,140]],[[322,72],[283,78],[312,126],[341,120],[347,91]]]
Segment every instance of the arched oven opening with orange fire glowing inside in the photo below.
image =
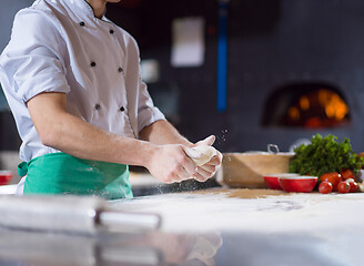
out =
[[330,84],[289,84],[271,93],[263,111],[263,126],[323,129],[350,123],[348,105]]

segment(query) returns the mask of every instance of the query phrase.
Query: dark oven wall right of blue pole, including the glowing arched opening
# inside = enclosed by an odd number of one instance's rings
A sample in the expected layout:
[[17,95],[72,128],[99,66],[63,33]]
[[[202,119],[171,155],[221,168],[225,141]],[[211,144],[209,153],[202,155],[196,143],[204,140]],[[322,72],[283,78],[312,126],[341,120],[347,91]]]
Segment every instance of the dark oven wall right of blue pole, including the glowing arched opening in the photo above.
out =
[[320,133],[364,151],[363,13],[356,0],[231,1],[222,150],[290,151]]

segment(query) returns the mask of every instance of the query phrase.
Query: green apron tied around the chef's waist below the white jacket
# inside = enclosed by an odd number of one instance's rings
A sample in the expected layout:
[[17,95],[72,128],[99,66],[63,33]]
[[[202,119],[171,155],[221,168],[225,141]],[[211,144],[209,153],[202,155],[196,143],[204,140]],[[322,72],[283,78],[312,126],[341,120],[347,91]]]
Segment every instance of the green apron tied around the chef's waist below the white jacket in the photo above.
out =
[[107,200],[131,198],[129,166],[51,153],[18,165],[27,175],[23,194],[98,195]]

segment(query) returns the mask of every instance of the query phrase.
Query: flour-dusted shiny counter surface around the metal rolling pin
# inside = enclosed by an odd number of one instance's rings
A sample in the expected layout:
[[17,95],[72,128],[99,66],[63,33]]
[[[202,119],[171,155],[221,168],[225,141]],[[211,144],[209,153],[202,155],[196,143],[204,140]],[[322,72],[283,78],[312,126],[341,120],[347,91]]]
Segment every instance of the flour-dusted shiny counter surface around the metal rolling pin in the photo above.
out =
[[97,236],[0,231],[0,265],[364,265],[364,194],[209,190],[114,201],[162,228]]

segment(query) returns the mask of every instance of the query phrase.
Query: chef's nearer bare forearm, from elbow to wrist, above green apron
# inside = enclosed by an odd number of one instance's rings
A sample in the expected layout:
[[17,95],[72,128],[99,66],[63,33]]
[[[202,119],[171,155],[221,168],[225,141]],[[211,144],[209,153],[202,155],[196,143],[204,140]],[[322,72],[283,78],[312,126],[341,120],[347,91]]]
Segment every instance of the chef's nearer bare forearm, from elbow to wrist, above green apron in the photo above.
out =
[[80,158],[145,166],[155,150],[151,143],[111,134],[68,113],[51,126],[43,143]]

